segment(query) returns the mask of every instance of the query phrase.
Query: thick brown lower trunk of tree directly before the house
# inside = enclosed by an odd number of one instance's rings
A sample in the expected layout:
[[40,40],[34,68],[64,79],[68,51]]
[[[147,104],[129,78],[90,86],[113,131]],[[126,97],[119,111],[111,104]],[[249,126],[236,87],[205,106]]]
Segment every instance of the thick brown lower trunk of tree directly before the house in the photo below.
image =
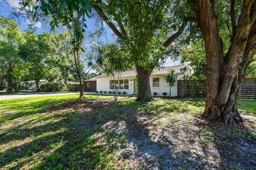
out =
[[136,67],[138,74],[138,96],[136,101],[152,101],[149,77],[153,69],[146,70],[143,67]]

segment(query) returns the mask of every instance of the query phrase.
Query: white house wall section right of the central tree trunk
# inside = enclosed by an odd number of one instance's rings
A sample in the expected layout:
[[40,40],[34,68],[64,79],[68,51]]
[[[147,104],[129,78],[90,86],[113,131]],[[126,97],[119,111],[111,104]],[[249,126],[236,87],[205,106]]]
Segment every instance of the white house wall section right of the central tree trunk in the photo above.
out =
[[[153,78],[159,78],[159,87],[153,87]],[[170,88],[168,86],[168,83],[166,83],[166,81],[164,80],[164,75],[151,75],[150,87],[152,95],[154,92],[157,92],[157,96],[163,96],[162,93],[167,92],[167,96],[169,96]],[[175,86],[172,87],[171,96],[178,96],[177,78]]]

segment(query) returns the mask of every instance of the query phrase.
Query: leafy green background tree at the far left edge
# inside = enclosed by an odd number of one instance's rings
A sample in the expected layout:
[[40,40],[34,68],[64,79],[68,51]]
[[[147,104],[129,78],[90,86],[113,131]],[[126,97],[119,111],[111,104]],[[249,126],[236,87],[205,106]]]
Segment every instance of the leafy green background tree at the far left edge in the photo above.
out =
[[12,92],[20,80],[20,71],[26,65],[18,55],[22,34],[19,24],[11,19],[0,18],[0,72],[7,80],[7,92]]

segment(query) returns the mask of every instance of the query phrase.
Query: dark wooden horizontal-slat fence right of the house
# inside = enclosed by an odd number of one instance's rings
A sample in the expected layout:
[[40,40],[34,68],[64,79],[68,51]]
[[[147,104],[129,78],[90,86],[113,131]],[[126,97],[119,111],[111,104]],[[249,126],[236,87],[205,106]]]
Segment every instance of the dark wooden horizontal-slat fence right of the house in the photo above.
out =
[[[185,97],[205,97],[206,83],[205,80],[183,81],[178,80],[178,96]],[[254,99],[256,100],[256,78],[244,79],[240,92],[239,99]]]

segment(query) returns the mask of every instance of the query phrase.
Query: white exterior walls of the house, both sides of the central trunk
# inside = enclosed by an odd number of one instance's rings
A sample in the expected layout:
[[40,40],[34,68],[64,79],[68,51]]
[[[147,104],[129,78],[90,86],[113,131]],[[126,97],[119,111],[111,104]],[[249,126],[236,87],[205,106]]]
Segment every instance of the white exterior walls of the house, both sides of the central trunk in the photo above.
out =
[[[159,87],[153,87],[153,78],[159,78]],[[119,89],[119,91],[123,92],[126,91],[127,95],[134,94],[134,86],[133,86],[133,80],[135,77],[121,77],[121,79],[128,79],[129,80],[129,89],[128,90],[122,90]],[[132,80],[132,81],[131,81]],[[109,78],[101,78],[97,79],[97,91],[112,91],[110,89],[110,79]],[[153,92],[157,92],[157,96],[163,96],[163,92],[167,92],[167,96],[169,96],[170,88],[166,81],[164,80],[164,75],[151,75],[150,76],[150,87],[151,87],[151,93],[153,95]],[[174,87],[172,87],[171,96],[177,96],[177,83]]]

